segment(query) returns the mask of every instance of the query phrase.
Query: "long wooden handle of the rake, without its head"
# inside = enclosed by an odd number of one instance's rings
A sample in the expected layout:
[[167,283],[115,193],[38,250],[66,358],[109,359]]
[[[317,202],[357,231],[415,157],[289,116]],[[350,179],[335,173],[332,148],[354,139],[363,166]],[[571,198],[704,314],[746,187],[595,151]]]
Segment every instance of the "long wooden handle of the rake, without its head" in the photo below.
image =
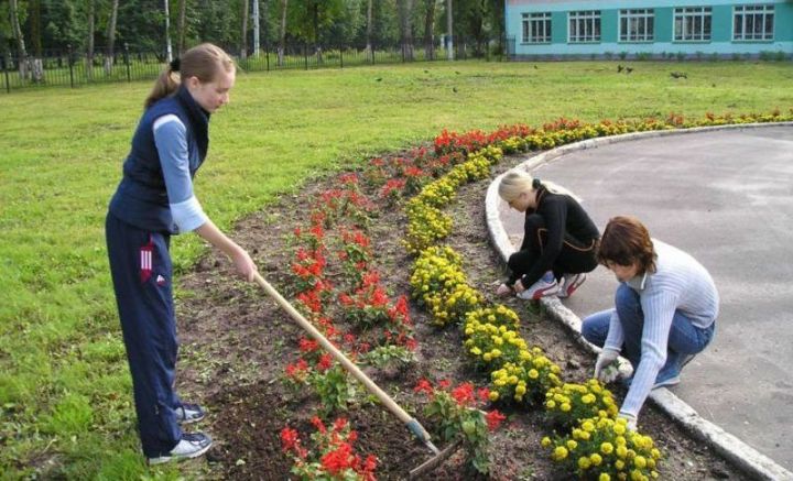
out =
[[264,277],[261,276],[258,272],[253,274],[256,282],[264,289],[264,292],[268,293],[270,297],[275,299],[275,302],[292,317],[292,319],[295,320],[302,327],[306,332],[311,335],[317,342],[319,342],[327,352],[330,353],[330,356],[334,357],[344,368],[355,376],[358,381],[360,381],[361,384],[369,391],[370,393],[374,394],[378,400],[380,400],[381,403],[385,405],[385,407],[389,408],[397,417],[400,418],[402,423],[408,425],[408,428],[424,444],[428,444],[427,446],[432,445],[430,442],[430,434],[424,429],[424,427],[419,424],[417,420],[415,420],[410,414],[408,414],[399,404],[397,404],[391,396],[385,394],[383,390],[381,390],[374,382],[372,382],[371,379],[369,379],[368,375],[363,373],[358,367],[352,363],[341,351],[339,351],[336,346],[330,343],[325,336],[322,335],[317,330],[317,328],[314,327],[305,317],[303,317],[302,314],[297,311],[297,309],[292,306],[292,304],[289,303],[281,294],[279,294],[275,288],[270,285],[269,282],[264,280]]

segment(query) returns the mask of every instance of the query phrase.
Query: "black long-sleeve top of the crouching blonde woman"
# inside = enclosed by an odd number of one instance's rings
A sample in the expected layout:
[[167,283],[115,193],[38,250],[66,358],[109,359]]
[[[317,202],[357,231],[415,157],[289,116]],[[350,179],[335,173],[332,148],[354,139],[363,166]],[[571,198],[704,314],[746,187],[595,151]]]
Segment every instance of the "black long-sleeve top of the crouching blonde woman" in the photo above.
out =
[[[595,222],[573,197],[564,194],[553,194],[543,186],[537,190],[536,197],[536,208],[528,209],[525,215],[526,217],[532,214],[540,215],[545,221],[547,230],[540,258],[534,262],[531,270],[521,277],[521,284],[525,288],[529,288],[543,274],[552,270],[556,258],[562,252],[565,238],[573,238],[582,245],[591,245],[591,241],[600,237]],[[534,231],[530,232],[530,223],[526,222],[521,250],[529,249],[530,236],[536,234]]]

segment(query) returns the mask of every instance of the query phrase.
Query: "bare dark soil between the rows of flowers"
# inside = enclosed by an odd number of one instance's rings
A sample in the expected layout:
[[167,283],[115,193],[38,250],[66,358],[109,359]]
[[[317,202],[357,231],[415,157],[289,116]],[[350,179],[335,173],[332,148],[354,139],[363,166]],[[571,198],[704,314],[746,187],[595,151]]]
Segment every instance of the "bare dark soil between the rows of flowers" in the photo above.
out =
[[[506,170],[515,160],[506,158]],[[445,243],[461,253],[468,282],[492,296],[503,265],[489,243],[485,225],[485,192],[489,181],[461,187],[447,212],[455,219],[454,233]],[[290,298],[293,258],[291,239],[295,227],[307,226],[306,206],[316,193],[330,187],[318,179],[297,195],[285,195],[274,205],[241,221],[233,238],[251,252],[260,272]],[[369,234],[374,242],[376,265],[393,298],[409,292],[412,258],[400,244],[405,226],[401,209],[381,208]],[[181,360],[178,391],[186,401],[200,402],[209,415],[197,426],[211,434],[216,446],[208,462],[194,461],[200,477],[210,479],[289,479],[291,459],[281,451],[280,431],[289,425],[309,433],[308,419],[318,400],[309,391],[298,394],[281,381],[284,368],[295,360],[302,331],[256,284],[231,275],[230,264],[217,252],[208,253],[180,282],[177,299]],[[530,346],[540,346],[563,368],[563,378],[583,382],[593,372],[594,357],[584,351],[565,329],[520,299],[506,302],[522,319],[522,335]],[[421,378],[472,381],[485,386],[487,379],[472,371],[463,352],[460,332],[428,325],[424,313],[411,306],[419,341],[417,365],[406,372],[368,371],[385,392],[409,412],[420,406],[412,387]],[[613,390],[621,398],[624,392]],[[504,425],[493,434],[491,478],[498,480],[561,479],[540,440],[548,433],[542,409],[507,412]],[[359,433],[357,451],[378,457],[379,479],[405,479],[409,471],[430,459],[428,450],[380,405],[365,403],[348,413]],[[421,420],[421,413],[416,414]],[[709,447],[692,439],[662,413],[648,405],[642,412],[642,431],[652,436],[665,455],[660,464],[663,479],[747,479]],[[430,428],[430,426],[425,426]],[[463,451],[449,458],[427,479],[477,479]],[[191,469],[191,468],[186,468]]]

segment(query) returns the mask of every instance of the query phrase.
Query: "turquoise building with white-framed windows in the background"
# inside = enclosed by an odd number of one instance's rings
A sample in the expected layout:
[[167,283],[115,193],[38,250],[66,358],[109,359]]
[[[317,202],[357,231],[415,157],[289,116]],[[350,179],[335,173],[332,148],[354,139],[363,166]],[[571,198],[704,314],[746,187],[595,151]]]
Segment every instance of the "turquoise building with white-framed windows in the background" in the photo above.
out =
[[515,58],[793,55],[793,0],[506,0]]

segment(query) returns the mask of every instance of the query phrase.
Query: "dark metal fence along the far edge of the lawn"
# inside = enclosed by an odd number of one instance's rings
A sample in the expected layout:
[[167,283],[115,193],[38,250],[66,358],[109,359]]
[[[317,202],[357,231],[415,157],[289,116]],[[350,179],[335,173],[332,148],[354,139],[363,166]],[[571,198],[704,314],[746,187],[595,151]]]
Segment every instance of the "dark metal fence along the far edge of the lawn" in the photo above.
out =
[[[456,59],[485,58],[501,59],[509,55],[509,40],[466,42],[455,40]],[[503,54],[503,55],[502,55]],[[263,47],[258,54],[249,52],[236,55],[245,72],[270,72],[281,69],[346,68],[360,65],[397,64],[406,62],[446,61],[443,46],[424,45],[412,47],[374,46],[371,50],[357,46],[315,46],[306,43],[291,43],[283,50]],[[0,89],[4,92],[24,88],[47,86],[79,87],[89,84],[153,79],[165,65],[162,52],[133,50],[129,45],[108,55],[97,48],[93,55],[87,52],[47,51],[41,58],[29,57],[20,62],[8,53],[0,57],[2,75]]]

